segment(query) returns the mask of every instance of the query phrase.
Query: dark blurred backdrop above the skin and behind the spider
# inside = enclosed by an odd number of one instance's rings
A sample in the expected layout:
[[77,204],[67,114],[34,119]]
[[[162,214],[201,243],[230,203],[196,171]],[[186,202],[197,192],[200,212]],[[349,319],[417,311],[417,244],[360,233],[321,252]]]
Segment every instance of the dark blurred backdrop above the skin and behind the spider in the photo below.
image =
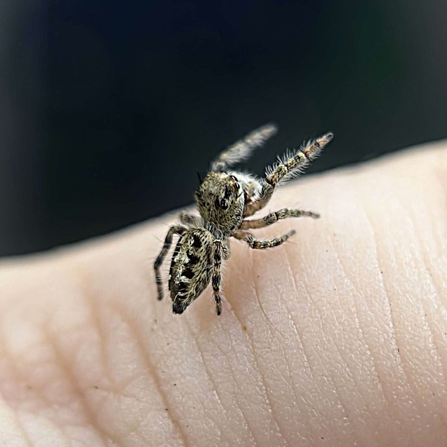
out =
[[331,130],[308,172],[447,137],[447,2],[0,2],[0,255],[192,202],[196,171],[269,121],[245,167]]

